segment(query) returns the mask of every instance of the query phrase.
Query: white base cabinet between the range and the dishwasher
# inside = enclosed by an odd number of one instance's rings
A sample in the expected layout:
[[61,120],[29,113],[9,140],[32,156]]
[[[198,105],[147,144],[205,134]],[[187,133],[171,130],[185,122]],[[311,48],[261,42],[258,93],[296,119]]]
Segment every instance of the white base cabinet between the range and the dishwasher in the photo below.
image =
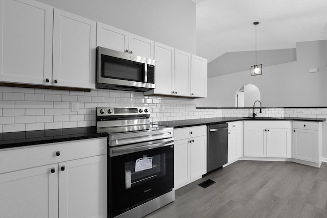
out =
[[206,174],[206,126],[174,129],[174,184],[178,189]]

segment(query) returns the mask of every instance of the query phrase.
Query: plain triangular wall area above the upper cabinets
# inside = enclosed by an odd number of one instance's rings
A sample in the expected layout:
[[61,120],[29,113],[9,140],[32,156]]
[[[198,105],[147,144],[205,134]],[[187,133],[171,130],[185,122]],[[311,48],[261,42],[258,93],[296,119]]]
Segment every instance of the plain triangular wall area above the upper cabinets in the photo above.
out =
[[190,0],[38,0],[196,54],[196,5]]

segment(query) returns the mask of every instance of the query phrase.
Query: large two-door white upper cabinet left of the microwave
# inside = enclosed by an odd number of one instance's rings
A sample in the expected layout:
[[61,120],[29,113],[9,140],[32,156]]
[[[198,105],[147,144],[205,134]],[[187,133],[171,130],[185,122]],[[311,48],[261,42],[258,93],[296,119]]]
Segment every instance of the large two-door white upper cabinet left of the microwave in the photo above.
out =
[[0,82],[95,88],[95,21],[33,0],[1,0],[0,16]]

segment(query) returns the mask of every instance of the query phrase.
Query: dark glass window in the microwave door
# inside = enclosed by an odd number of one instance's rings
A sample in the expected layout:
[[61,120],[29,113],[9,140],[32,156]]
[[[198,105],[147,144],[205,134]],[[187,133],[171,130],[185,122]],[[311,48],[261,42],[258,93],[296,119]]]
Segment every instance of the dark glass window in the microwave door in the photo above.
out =
[[101,77],[144,82],[143,63],[101,55]]

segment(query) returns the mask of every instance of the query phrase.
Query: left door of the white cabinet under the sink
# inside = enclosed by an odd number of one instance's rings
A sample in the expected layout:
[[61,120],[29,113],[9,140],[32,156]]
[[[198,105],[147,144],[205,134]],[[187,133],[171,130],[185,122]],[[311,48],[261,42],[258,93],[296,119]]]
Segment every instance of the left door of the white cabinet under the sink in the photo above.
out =
[[267,157],[264,129],[246,129],[244,131],[244,157]]

